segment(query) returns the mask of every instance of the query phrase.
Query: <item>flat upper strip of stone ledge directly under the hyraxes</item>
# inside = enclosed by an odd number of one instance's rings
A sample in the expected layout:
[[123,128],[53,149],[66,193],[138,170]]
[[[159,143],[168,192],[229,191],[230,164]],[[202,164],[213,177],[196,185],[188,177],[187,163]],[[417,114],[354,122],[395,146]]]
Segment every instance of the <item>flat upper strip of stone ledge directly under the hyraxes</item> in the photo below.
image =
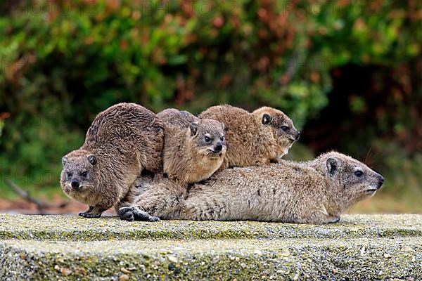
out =
[[422,215],[345,215],[326,226],[255,221],[127,222],[117,217],[0,214],[0,240],[421,237]]

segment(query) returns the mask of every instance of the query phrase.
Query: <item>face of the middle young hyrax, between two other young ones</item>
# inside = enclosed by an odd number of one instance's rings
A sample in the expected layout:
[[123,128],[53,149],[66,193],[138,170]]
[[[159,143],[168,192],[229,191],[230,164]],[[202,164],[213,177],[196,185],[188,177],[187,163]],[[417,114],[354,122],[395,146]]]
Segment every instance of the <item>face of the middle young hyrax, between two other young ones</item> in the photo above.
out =
[[224,124],[214,119],[200,119],[189,125],[191,142],[198,152],[210,159],[221,159],[226,155]]

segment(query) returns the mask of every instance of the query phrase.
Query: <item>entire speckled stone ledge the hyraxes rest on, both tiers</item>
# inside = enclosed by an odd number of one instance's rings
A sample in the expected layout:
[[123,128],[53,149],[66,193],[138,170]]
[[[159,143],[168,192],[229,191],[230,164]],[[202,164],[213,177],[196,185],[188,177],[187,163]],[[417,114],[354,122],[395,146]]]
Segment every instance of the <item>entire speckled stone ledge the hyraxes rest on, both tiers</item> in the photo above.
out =
[[422,280],[422,215],[310,226],[0,214],[0,280]]

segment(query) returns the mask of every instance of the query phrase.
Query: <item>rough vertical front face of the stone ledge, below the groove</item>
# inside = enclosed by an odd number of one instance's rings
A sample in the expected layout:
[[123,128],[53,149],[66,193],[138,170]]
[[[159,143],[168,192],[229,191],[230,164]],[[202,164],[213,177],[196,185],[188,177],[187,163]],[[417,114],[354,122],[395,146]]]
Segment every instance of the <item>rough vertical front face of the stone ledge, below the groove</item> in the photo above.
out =
[[422,238],[3,240],[0,263],[10,280],[421,280]]

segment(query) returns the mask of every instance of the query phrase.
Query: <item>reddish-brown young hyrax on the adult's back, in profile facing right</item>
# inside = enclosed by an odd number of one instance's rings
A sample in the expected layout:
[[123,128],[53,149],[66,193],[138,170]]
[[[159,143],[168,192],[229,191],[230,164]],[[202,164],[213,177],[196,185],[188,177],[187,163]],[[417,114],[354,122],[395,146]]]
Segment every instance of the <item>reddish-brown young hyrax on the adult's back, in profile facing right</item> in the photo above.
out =
[[271,107],[250,113],[231,105],[217,105],[199,117],[215,119],[225,126],[227,152],[220,170],[277,162],[300,136],[292,120]]

